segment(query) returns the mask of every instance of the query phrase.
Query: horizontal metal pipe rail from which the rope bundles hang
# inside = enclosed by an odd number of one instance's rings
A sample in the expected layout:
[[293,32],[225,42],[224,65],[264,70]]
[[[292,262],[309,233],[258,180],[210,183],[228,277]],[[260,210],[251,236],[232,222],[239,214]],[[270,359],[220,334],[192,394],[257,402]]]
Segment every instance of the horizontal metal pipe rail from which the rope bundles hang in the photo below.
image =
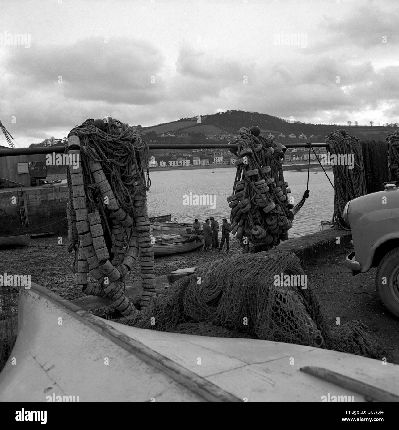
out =
[[[326,143],[283,143],[287,148],[309,148],[312,147],[326,147]],[[235,143],[149,143],[149,150],[154,149],[237,149]],[[36,155],[36,154],[62,154],[64,146],[49,146],[49,147],[36,147],[36,148],[10,148],[0,149],[0,157],[7,157],[11,155]]]

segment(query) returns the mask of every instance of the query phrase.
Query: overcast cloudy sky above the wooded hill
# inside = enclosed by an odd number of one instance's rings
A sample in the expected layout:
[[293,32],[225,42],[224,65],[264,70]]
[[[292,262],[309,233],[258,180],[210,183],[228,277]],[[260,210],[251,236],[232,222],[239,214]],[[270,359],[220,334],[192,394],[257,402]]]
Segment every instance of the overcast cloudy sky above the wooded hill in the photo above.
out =
[[105,115],[399,122],[398,18],[396,0],[1,0],[0,120],[20,147]]

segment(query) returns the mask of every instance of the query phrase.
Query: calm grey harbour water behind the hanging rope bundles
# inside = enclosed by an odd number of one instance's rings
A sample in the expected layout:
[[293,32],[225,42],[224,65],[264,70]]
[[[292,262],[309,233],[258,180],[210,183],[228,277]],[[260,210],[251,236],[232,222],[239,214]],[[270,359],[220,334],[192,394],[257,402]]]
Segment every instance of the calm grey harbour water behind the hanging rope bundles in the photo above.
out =
[[[214,172],[214,173],[212,173]],[[219,224],[222,218],[230,218],[230,208],[226,197],[232,194],[235,179],[235,168],[218,169],[187,169],[150,171],[152,181],[150,192],[147,194],[148,215],[172,214],[179,222],[192,223],[195,218],[203,223],[211,215]],[[332,171],[327,172],[334,183]],[[298,203],[306,190],[308,172],[284,172],[284,178],[289,183],[294,203]],[[334,212],[334,190],[323,172],[310,173],[309,198],[295,216],[290,237],[320,231],[319,225],[323,220],[331,221]],[[185,194],[216,194],[216,208],[210,206],[184,206]]]

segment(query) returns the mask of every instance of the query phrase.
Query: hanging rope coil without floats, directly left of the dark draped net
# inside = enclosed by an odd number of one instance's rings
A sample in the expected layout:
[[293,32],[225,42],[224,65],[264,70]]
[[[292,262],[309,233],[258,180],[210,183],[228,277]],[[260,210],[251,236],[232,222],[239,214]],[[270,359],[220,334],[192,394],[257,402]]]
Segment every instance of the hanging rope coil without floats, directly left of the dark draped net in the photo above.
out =
[[334,215],[332,222],[336,228],[350,230],[344,223],[342,215],[344,207],[349,200],[367,194],[362,148],[359,139],[347,134],[344,129],[329,133],[326,146],[332,156],[337,160],[344,160],[344,156],[353,157],[353,168],[348,163],[332,163],[334,174]]

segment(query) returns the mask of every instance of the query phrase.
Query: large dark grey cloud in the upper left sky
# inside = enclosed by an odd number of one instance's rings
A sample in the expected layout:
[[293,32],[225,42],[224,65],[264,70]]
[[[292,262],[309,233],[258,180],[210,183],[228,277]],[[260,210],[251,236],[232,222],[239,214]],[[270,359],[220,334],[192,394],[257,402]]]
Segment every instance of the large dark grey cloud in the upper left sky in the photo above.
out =
[[150,43],[116,37],[104,43],[104,37],[91,37],[71,45],[14,50],[7,67],[36,88],[61,85],[61,76],[69,98],[151,104],[164,96],[158,76],[163,62]]

